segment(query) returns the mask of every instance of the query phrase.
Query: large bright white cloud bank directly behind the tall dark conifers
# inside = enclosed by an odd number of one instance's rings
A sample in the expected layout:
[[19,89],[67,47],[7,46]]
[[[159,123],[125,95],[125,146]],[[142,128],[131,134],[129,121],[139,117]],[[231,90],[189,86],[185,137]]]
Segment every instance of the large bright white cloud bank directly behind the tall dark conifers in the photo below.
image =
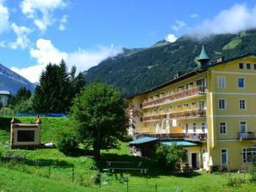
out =
[[95,50],[78,49],[67,53],[58,50],[49,39],[38,39],[36,48],[30,50],[30,56],[36,59],[37,63],[21,69],[11,67],[11,70],[26,77],[31,82],[38,82],[42,70],[50,62],[59,63],[61,59],[64,59],[67,62],[67,67],[71,68],[75,65],[78,71],[84,71],[108,57],[115,57],[122,51],[123,49],[114,46],[99,46]]

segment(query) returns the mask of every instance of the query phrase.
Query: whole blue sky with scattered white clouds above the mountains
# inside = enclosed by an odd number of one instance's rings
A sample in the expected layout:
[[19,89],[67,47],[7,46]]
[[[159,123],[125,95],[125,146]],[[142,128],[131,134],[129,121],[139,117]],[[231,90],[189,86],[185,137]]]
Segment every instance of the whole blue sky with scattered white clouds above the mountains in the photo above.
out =
[[35,82],[47,63],[61,58],[87,70],[122,47],[254,28],[255,5],[256,0],[0,0],[0,63]]

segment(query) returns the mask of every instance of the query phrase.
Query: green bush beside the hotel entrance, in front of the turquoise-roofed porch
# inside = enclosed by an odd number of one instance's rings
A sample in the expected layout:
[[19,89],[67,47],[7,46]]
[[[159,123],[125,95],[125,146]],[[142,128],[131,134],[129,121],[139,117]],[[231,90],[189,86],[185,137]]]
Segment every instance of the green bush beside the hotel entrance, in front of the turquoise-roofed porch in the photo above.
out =
[[174,143],[171,146],[160,145],[157,147],[156,156],[159,163],[164,163],[171,171],[174,171],[178,162],[185,158],[185,149]]

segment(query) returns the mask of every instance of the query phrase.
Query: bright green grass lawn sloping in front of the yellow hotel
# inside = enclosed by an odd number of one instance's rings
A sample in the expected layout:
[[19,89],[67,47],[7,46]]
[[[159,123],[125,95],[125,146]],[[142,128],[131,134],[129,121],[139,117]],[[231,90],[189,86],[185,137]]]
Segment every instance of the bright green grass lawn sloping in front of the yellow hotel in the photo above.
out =
[[[19,121],[29,123],[33,122],[34,118],[19,118]],[[58,129],[71,125],[68,118],[43,118],[42,122],[43,141],[52,142],[55,141],[54,135]],[[8,137],[9,119],[0,118],[0,140],[6,140]],[[119,149],[102,150],[101,161],[98,163],[89,156],[92,151],[86,150],[81,150],[79,156],[64,156],[57,149],[2,149],[5,155],[24,156],[25,160],[0,162],[0,191],[126,191],[126,181],[120,180],[120,175],[115,173],[102,173],[101,189],[95,184],[99,170],[106,168],[106,160],[144,162],[144,168],[149,169],[148,180],[140,171],[124,173],[124,177],[128,178],[129,191],[150,192],[156,191],[156,187],[158,192],[256,191],[256,184],[249,182],[249,174],[245,175],[245,183],[233,187],[227,185],[227,173],[196,173],[192,177],[170,175],[168,170],[156,161],[132,156],[127,146],[128,143],[120,142]],[[47,164],[31,163],[35,160],[47,161]],[[71,165],[74,165],[74,183]],[[231,177],[237,180],[243,178],[244,174],[232,173]]]

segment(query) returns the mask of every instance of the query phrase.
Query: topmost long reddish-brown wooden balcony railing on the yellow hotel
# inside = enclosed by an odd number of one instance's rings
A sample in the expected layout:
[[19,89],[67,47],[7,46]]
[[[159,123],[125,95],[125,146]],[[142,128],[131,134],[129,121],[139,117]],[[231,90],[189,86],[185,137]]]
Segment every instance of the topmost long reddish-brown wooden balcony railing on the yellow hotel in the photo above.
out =
[[142,108],[147,108],[154,105],[160,105],[160,104],[168,103],[169,101],[175,101],[177,99],[187,98],[195,94],[203,94],[203,93],[206,93],[206,87],[192,87],[184,91],[178,91],[176,93],[167,94],[163,98],[157,98],[157,99],[154,99],[153,101],[143,102]]

